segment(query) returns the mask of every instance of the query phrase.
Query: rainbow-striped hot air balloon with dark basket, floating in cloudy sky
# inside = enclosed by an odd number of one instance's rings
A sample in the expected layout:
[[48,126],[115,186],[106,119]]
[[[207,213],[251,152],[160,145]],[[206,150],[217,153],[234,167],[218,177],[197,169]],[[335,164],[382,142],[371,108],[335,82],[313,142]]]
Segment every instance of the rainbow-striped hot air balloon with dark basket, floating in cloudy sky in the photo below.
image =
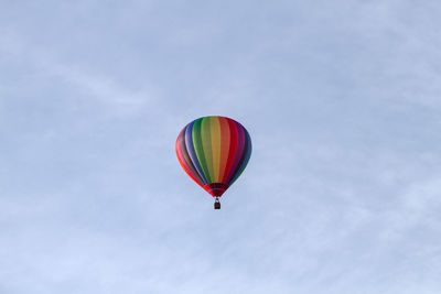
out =
[[203,117],[182,129],[176,140],[178,160],[185,173],[214,198],[219,198],[244,172],[251,155],[251,139],[237,121]]

